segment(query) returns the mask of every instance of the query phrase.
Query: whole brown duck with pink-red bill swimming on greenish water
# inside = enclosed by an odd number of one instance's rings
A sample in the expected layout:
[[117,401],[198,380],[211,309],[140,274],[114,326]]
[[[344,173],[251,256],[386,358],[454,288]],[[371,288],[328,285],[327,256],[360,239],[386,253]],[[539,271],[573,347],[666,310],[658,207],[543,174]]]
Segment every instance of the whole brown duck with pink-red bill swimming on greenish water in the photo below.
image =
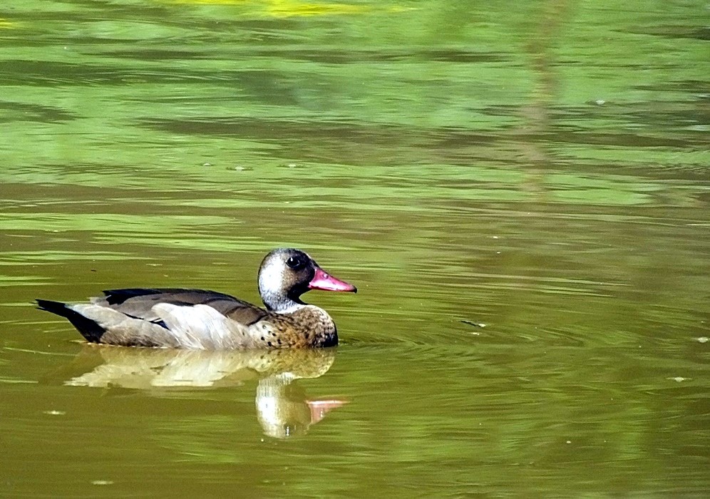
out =
[[108,289],[88,303],[36,299],[68,319],[90,343],[175,349],[299,349],[335,346],[328,312],[302,301],[311,289],[356,293],[306,252],[273,249],[258,273],[264,308],[203,289]]

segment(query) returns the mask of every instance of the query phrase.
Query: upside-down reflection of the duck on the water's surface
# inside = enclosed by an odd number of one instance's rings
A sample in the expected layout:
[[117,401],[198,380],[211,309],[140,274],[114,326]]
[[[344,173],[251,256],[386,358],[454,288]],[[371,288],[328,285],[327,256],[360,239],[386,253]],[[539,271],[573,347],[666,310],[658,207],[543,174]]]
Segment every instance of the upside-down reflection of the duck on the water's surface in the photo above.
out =
[[298,386],[302,378],[326,374],[336,349],[205,351],[141,349],[86,345],[76,364],[90,371],[65,382],[68,386],[118,386],[156,390],[168,387],[239,386],[257,380],[257,419],[264,433],[288,438],[306,433],[344,400],[309,400]]

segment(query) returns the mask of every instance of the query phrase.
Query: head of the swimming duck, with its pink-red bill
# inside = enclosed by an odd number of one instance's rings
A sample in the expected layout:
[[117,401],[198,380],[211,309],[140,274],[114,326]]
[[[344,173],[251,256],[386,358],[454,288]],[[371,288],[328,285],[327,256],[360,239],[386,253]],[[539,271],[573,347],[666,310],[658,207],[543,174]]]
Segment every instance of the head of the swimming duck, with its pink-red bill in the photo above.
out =
[[259,267],[259,294],[272,312],[293,312],[300,297],[311,289],[356,293],[352,284],[332,277],[299,249],[279,248],[267,254]]

